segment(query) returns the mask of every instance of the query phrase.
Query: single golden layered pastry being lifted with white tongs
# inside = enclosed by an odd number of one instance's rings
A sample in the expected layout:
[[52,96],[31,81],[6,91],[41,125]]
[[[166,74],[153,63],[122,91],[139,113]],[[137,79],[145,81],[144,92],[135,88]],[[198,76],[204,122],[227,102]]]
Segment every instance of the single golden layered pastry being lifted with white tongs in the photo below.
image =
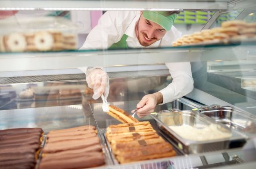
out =
[[137,119],[132,117],[128,112],[124,111],[121,108],[118,108],[114,105],[109,105],[109,112],[108,115],[112,116],[113,118],[117,119],[122,123],[135,123],[139,122]]

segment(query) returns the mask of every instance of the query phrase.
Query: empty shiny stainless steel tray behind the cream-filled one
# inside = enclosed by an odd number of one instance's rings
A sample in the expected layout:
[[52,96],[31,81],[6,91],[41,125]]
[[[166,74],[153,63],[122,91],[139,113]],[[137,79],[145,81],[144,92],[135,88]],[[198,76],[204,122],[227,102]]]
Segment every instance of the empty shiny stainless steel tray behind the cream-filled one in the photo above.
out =
[[198,112],[229,128],[245,133],[248,137],[256,136],[256,117],[252,114],[241,112],[230,106],[219,105],[204,106]]

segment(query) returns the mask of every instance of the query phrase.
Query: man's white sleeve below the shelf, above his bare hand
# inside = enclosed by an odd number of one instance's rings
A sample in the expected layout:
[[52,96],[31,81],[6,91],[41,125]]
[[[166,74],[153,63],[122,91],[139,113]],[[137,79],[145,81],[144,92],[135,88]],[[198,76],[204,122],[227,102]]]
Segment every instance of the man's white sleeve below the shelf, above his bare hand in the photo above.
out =
[[194,87],[190,62],[166,63],[166,66],[169,68],[173,81],[159,91],[163,95],[162,104],[183,97],[190,93]]

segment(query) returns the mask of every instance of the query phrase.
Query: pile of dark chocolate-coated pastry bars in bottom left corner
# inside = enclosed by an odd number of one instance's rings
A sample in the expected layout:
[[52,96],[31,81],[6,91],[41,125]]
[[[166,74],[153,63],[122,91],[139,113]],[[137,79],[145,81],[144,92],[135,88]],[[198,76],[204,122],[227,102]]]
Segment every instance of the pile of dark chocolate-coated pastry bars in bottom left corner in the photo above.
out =
[[0,130],[0,168],[34,169],[42,136],[41,128]]

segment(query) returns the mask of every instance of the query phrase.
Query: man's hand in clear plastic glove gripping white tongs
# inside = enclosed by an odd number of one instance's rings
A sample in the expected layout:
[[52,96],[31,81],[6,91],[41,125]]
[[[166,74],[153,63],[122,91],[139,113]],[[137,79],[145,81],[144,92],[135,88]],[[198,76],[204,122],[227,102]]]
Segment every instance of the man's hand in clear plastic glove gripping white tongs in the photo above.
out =
[[93,89],[92,98],[94,100],[101,97],[103,93],[105,93],[106,97],[109,95],[109,76],[102,69],[100,67],[87,68],[85,73],[88,87]]

